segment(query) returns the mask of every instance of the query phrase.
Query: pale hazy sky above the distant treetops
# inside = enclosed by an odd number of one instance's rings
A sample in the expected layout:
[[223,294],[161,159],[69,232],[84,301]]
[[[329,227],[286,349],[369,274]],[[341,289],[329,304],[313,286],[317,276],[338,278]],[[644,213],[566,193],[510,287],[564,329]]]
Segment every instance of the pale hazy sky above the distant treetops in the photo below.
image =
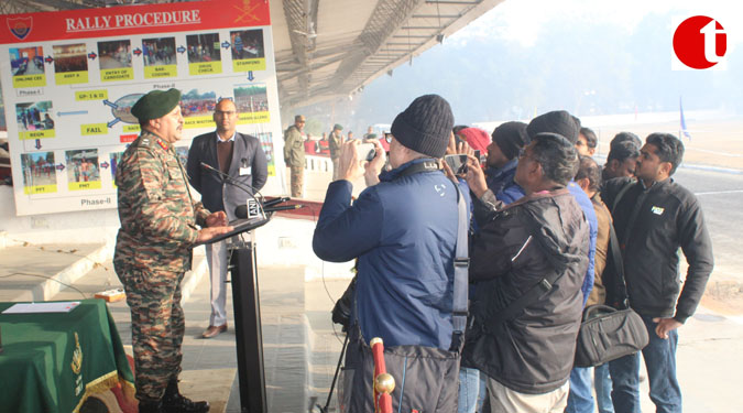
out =
[[461,44],[472,37],[488,37],[520,42],[528,47],[543,34],[539,30],[549,20],[579,17],[624,28],[631,33],[648,13],[668,14],[669,29],[685,18],[708,15],[725,29],[729,51],[743,42],[743,1],[740,0],[505,0],[448,41]]

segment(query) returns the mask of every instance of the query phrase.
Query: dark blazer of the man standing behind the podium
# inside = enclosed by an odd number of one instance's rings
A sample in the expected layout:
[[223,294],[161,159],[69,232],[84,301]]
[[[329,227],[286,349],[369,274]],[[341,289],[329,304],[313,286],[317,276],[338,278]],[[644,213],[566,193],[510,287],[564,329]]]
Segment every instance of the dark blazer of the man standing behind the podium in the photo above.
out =
[[[249,195],[248,188],[225,183],[216,172],[206,171],[201,162],[219,170],[217,161],[217,132],[204,133],[196,138],[188,150],[188,183],[201,194],[204,207],[212,213],[223,210],[227,216],[234,219],[234,208],[244,205]],[[261,189],[269,177],[265,153],[258,138],[249,134],[236,133],[232,146],[232,160],[227,173],[233,180]]]

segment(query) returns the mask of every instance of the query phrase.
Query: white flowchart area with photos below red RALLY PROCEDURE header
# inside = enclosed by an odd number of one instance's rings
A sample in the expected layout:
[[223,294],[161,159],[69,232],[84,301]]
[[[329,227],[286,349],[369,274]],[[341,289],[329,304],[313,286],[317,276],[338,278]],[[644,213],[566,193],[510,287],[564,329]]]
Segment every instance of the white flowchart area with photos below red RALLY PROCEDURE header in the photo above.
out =
[[3,98],[19,214],[116,207],[117,164],[140,133],[131,107],[152,89],[182,91],[175,149],[184,163],[190,139],[214,130],[215,106],[229,98],[238,129],[261,140],[275,175],[270,26],[50,40],[0,45],[0,54],[10,57],[0,79],[12,85]]

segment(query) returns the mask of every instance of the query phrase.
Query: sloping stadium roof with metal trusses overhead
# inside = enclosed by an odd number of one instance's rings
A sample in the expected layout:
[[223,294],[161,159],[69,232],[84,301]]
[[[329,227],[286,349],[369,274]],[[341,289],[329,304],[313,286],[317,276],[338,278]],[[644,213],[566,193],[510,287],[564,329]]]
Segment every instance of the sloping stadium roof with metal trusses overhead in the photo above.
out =
[[[270,0],[282,109],[347,98],[502,1]],[[162,2],[2,0],[0,14]]]

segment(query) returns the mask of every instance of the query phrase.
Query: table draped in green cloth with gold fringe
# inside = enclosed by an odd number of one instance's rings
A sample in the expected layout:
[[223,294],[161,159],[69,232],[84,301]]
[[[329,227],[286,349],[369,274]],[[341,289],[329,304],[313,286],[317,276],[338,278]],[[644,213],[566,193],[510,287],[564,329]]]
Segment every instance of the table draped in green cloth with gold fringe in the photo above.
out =
[[[15,303],[0,303],[0,312]],[[0,410],[77,413],[91,394],[133,374],[102,300],[83,300],[69,313],[0,314]]]

